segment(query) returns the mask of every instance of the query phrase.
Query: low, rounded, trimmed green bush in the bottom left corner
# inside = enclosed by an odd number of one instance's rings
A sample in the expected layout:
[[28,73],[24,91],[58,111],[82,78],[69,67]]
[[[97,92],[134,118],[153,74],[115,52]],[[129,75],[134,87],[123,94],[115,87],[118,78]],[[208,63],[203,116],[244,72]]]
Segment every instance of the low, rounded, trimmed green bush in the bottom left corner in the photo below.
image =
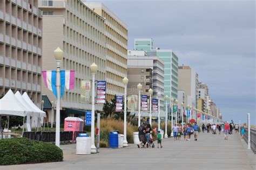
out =
[[0,165],[63,161],[59,147],[26,138],[0,140]]

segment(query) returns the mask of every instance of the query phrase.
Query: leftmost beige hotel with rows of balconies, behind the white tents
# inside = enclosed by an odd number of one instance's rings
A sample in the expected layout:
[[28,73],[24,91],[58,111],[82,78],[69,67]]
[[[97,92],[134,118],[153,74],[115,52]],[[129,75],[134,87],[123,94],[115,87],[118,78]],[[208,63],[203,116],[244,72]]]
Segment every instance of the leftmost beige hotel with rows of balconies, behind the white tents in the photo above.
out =
[[42,26],[37,0],[0,1],[0,96],[28,92],[41,106]]

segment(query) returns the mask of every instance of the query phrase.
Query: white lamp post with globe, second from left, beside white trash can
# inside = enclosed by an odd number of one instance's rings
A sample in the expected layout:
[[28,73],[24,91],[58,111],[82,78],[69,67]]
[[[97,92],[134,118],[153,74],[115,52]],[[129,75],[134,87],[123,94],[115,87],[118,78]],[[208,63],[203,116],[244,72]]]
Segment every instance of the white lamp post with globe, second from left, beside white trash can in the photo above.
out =
[[92,63],[90,70],[92,73],[91,153],[97,153],[95,147],[95,74],[98,70],[98,66]]

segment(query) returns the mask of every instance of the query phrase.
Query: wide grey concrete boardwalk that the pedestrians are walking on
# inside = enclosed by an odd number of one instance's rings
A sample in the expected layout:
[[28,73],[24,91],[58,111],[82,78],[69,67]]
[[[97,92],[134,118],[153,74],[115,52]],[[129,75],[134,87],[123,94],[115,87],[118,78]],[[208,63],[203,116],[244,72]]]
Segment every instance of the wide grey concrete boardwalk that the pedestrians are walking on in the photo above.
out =
[[0,169],[256,169],[238,134],[200,133],[198,141],[163,140],[163,148],[100,149],[100,153],[76,155],[75,145],[62,146],[64,161],[46,164],[0,166]]

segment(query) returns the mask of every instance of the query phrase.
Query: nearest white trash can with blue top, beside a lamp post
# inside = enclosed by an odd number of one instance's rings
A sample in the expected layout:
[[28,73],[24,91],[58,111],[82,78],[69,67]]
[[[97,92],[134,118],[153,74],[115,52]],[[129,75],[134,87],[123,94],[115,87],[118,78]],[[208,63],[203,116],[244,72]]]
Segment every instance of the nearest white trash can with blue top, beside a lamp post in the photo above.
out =
[[79,133],[76,141],[76,154],[91,154],[91,137],[87,133]]

